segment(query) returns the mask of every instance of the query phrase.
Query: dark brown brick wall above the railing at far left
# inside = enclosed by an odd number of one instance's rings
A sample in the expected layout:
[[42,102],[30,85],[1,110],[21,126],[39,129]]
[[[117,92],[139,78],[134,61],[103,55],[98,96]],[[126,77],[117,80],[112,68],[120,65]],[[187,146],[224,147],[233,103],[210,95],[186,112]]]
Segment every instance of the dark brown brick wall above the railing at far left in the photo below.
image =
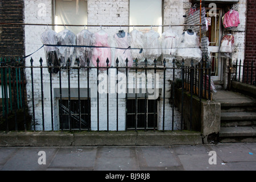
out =
[[[23,23],[23,0],[1,0],[0,22]],[[24,55],[23,26],[0,26],[0,57]]]

